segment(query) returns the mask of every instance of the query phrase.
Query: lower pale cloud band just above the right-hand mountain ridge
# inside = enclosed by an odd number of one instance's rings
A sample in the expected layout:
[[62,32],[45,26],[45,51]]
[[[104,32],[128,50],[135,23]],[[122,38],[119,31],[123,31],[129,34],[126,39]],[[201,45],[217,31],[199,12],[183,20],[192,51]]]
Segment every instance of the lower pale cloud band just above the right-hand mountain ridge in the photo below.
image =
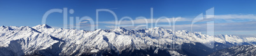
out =
[[[248,21],[243,23],[215,23],[215,31],[256,31],[256,21]],[[172,29],[171,26],[164,28]],[[191,30],[191,25],[175,25],[176,30]],[[206,31],[206,24],[194,24],[193,31]]]

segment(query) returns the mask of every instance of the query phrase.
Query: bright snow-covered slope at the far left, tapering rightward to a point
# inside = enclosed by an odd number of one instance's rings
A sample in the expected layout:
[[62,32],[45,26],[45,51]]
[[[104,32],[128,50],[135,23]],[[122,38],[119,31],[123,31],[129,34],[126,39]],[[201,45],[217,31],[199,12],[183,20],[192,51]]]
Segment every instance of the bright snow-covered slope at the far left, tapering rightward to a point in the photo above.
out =
[[8,26],[1,26],[0,28],[1,54],[6,54],[6,50],[3,50],[3,48],[7,48],[15,53],[11,55],[27,55],[36,50],[48,48],[53,43],[58,42],[53,40],[50,35],[41,33],[28,26],[21,26],[16,29]]

